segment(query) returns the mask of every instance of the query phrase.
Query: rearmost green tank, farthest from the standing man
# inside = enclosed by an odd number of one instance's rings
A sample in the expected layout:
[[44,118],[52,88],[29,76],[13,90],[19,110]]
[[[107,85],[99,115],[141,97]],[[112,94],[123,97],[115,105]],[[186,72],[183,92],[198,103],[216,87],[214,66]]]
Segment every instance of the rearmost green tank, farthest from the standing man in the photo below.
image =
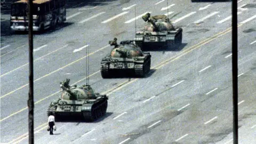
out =
[[150,13],[142,16],[146,22],[142,31],[137,31],[135,43],[145,50],[146,45],[172,46],[177,48],[182,43],[182,28],[174,27],[166,15],[155,15]]

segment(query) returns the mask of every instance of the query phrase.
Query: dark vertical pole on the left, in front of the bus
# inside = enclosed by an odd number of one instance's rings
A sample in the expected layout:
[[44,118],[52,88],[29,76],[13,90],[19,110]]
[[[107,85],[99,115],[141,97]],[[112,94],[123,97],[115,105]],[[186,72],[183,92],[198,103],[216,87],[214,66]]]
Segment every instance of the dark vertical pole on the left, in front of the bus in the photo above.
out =
[[[28,52],[29,52],[29,92],[28,92],[28,140],[34,144],[34,74],[33,74],[33,0],[28,0]],[[25,21],[26,22],[26,21]]]

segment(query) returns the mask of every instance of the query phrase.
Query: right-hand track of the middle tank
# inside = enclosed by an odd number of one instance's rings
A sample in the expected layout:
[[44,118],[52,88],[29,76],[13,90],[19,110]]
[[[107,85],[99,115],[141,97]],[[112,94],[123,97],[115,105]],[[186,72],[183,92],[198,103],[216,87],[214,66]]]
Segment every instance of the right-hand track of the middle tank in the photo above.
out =
[[147,60],[143,64],[137,64],[135,65],[135,75],[139,77],[145,77],[145,75],[150,70],[151,60]]

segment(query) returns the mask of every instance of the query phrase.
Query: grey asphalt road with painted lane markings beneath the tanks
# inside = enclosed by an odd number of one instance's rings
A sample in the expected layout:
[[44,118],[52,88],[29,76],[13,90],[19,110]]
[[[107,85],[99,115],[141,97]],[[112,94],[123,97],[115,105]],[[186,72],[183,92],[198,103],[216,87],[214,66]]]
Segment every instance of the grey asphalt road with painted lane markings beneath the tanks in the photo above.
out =
[[[231,19],[226,19],[231,3],[169,1],[169,18],[183,28],[182,46],[151,50],[146,78],[102,79],[108,41],[134,38],[135,21],[129,22],[134,4],[137,15],[167,13],[161,11],[166,1],[72,1],[62,26],[34,36],[35,143],[232,142]],[[256,2],[242,0],[238,7],[239,143],[256,143]],[[10,35],[9,17],[1,10],[1,142],[28,143],[28,38]],[[142,25],[137,19],[137,30]],[[59,82],[68,77],[71,84],[85,83],[85,49],[90,84],[109,97],[107,115],[93,123],[58,122],[49,135],[46,110],[59,97]]]

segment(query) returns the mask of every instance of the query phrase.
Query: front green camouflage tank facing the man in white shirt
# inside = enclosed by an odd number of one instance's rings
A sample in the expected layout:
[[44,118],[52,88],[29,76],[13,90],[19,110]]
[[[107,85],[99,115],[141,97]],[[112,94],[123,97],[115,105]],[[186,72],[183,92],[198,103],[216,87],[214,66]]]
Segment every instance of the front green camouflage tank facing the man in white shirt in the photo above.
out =
[[47,116],[53,113],[58,121],[61,117],[78,116],[87,122],[93,122],[106,114],[108,97],[94,93],[90,85],[70,86],[70,79],[60,83],[60,98],[50,103]]

